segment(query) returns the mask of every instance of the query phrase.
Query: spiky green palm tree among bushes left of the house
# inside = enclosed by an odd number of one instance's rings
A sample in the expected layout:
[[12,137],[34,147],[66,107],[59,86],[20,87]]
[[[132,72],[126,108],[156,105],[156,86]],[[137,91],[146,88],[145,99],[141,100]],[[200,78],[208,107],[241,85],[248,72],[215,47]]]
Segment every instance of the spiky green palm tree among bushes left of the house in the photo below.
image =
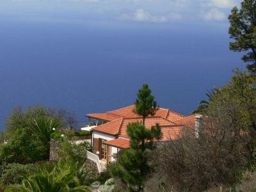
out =
[[31,128],[38,140],[45,147],[45,159],[49,159],[50,155],[50,141],[53,128],[61,127],[60,120],[48,117],[40,117],[33,120]]

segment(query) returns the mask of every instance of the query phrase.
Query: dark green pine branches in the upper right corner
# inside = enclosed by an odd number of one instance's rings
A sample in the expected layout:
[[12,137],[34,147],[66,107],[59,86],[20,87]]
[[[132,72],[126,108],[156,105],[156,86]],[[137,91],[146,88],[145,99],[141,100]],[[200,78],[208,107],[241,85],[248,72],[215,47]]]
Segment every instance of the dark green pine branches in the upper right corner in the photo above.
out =
[[230,50],[248,51],[242,58],[250,71],[256,70],[256,1],[244,0],[241,9],[234,7],[228,17],[230,28],[228,33],[234,42],[230,42]]

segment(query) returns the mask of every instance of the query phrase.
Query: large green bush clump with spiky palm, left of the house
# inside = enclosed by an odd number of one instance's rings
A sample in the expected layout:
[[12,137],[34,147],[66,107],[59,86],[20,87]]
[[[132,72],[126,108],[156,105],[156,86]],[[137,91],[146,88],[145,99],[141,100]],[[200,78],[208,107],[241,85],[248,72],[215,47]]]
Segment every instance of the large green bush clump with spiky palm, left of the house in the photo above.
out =
[[70,117],[64,110],[44,106],[14,108],[6,120],[2,138],[8,143],[0,146],[0,160],[25,164],[49,159],[49,135],[58,122],[59,126],[68,123],[71,117],[67,120],[67,115]]

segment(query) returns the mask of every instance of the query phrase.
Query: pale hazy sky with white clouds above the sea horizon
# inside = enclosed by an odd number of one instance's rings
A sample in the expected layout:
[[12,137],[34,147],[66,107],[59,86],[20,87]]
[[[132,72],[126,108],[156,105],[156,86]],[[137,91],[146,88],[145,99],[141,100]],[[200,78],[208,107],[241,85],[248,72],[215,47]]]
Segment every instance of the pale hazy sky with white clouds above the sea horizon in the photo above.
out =
[[237,0],[1,0],[1,17],[102,21],[227,22]]

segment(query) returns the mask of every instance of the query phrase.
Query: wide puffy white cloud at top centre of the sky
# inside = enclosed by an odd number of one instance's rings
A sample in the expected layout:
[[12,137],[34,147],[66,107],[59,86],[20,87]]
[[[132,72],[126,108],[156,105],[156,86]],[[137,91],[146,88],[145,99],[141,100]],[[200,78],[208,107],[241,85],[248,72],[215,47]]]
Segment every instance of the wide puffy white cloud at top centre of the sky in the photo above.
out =
[[121,20],[136,20],[147,22],[167,22],[168,20],[182,19],[179,13],[166,13],[164,15],[151,15],[143,9],[138,9],[135,12],[125,12],[120,15]]

